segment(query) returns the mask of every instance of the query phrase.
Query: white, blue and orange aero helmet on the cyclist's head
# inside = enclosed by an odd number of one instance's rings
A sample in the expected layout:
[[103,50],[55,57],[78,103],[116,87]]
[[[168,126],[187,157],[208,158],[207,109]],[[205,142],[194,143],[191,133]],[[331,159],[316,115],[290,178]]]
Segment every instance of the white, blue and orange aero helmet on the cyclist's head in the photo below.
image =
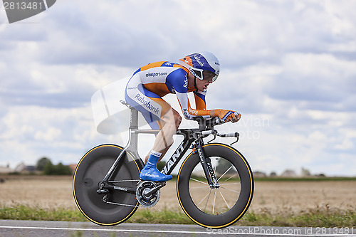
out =
[[198,79],[203,80],[203,71],[214,73],[213,82],[220,73],[219,60],[209,52],[192,53],[179,60],[179,64],[187,68]]

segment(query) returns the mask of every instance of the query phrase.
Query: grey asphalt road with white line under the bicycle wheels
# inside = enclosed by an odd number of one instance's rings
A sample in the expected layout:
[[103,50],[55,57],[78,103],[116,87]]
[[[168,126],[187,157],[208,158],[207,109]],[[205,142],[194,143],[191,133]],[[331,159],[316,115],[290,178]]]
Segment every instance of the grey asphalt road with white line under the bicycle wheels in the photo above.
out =
[[356,236],[352,228],[230,226],[211,230],[196,225],[122,223],[98,226],[90,222],[0,220],[0,236]]

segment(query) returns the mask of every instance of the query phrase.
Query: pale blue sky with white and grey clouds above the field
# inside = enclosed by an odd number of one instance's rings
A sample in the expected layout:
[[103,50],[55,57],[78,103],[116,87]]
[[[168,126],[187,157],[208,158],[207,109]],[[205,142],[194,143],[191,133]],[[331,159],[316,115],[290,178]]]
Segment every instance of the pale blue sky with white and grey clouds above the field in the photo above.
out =
[[353,0],[59,0],[9,24],[1,6],[0,165],[76,163],[97,144],[125,144],[97,132],[93,93],[147,63],[211,51],[221,74],[207,107],[241,112],[221,131],[241,132],[234,147],[253,170],[356,176],[354,9]]

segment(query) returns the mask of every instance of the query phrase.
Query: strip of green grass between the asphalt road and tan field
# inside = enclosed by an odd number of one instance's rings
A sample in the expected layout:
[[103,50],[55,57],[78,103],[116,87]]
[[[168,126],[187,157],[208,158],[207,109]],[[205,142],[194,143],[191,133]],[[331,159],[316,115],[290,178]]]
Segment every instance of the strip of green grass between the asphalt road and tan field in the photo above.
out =
[[[43,209],[31,206],[0,207],[0,219],[33,221],[88,221],[74,209]],[[151,211],[140,209],[127,223],[194,224],[182,211]],[[236,225],[239,226],[294,226],[294,227],[356,227],[355,210],[333,210],[317,207],[298,214],[288,211],[272,214],[268,211],[248,211]]]

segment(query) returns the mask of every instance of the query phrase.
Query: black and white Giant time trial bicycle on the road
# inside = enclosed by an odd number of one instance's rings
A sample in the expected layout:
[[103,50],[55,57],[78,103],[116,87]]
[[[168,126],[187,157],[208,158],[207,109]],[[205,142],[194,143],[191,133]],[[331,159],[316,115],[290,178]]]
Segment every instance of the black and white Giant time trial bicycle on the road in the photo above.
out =
[[[116,225],[126,221],[139,207],[157,204],[165,182],[140,180],[145,166],[137,152],[139,134],[159,130],[139,130],[138,111],[130,107],[129,141],[126,147],[101,144],[90,149],[78,162],[73,175],[73,196],[78,209],[93,223]],[[167,160],[162,173],[171,174],[187,155],[177,174],[177,197],[189,218],[200,226],[224,228],[238,221],[251,204],[253,174],[244,156],[231,144],[212,142],[220,134],[214,126],[224,123],[219,117],[197,117],[199,127],[177,130],[184,137]],[[204,138],[213,135],[209,142]],[[235,143],[235,142],[233,142]]]

